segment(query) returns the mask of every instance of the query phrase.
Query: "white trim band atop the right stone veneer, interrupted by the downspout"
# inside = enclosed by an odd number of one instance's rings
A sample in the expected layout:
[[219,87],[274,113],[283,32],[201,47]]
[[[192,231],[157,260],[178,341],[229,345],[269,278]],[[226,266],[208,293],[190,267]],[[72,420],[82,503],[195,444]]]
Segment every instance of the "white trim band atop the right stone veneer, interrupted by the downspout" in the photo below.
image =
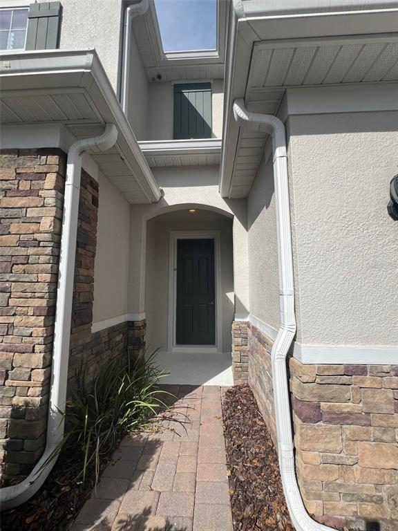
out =
[[[276,330],[254,315],[236,314],[236,321],[249,321],[260,332],[275,341]],[[299,362],[310,364],[359,364],[359,365],[398,365],[398,346],[373,345],[305,345],[293,343],[293,353]]]

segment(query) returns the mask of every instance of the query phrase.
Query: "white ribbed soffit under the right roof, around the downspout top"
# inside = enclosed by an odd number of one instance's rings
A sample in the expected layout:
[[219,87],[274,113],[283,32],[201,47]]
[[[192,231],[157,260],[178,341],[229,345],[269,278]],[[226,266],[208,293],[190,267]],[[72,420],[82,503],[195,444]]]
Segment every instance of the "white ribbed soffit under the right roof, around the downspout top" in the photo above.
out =
[[[287,88],[364,86],[397,80],[397,35],[260,41],[253,46],[245,104],[249,111],[276,115]],[[240,128],[230,198],[249,193],[266,138],[265,133]]]

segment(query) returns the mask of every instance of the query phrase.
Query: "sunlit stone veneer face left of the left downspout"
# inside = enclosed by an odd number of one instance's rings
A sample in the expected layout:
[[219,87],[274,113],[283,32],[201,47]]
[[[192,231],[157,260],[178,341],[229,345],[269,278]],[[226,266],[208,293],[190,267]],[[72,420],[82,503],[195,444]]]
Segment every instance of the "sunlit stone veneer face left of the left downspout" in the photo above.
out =
[[0,151],[0,442],[3,480],[44,448],[66,160]]

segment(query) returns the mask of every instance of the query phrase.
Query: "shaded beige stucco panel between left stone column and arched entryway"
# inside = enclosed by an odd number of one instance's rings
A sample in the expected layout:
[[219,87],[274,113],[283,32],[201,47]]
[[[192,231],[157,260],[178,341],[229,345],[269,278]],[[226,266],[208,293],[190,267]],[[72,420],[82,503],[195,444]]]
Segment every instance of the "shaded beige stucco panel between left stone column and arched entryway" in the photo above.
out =
[[101,172],[98,183],[93,323],[127,313],[129,283],[131,205]]

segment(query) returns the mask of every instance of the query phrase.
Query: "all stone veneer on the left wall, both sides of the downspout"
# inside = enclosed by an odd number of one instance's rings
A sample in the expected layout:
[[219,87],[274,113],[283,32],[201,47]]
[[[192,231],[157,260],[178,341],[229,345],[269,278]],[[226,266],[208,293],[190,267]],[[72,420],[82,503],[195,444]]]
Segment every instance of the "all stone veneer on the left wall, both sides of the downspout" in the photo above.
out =
[[[44,449],[66,156],[0,151],[1,481],[28,475]],[[69,389],[84,360],[88,383],[109,356],[140,355],[145,322],[91,333],[97,182],[82,171],[70,335]]]

